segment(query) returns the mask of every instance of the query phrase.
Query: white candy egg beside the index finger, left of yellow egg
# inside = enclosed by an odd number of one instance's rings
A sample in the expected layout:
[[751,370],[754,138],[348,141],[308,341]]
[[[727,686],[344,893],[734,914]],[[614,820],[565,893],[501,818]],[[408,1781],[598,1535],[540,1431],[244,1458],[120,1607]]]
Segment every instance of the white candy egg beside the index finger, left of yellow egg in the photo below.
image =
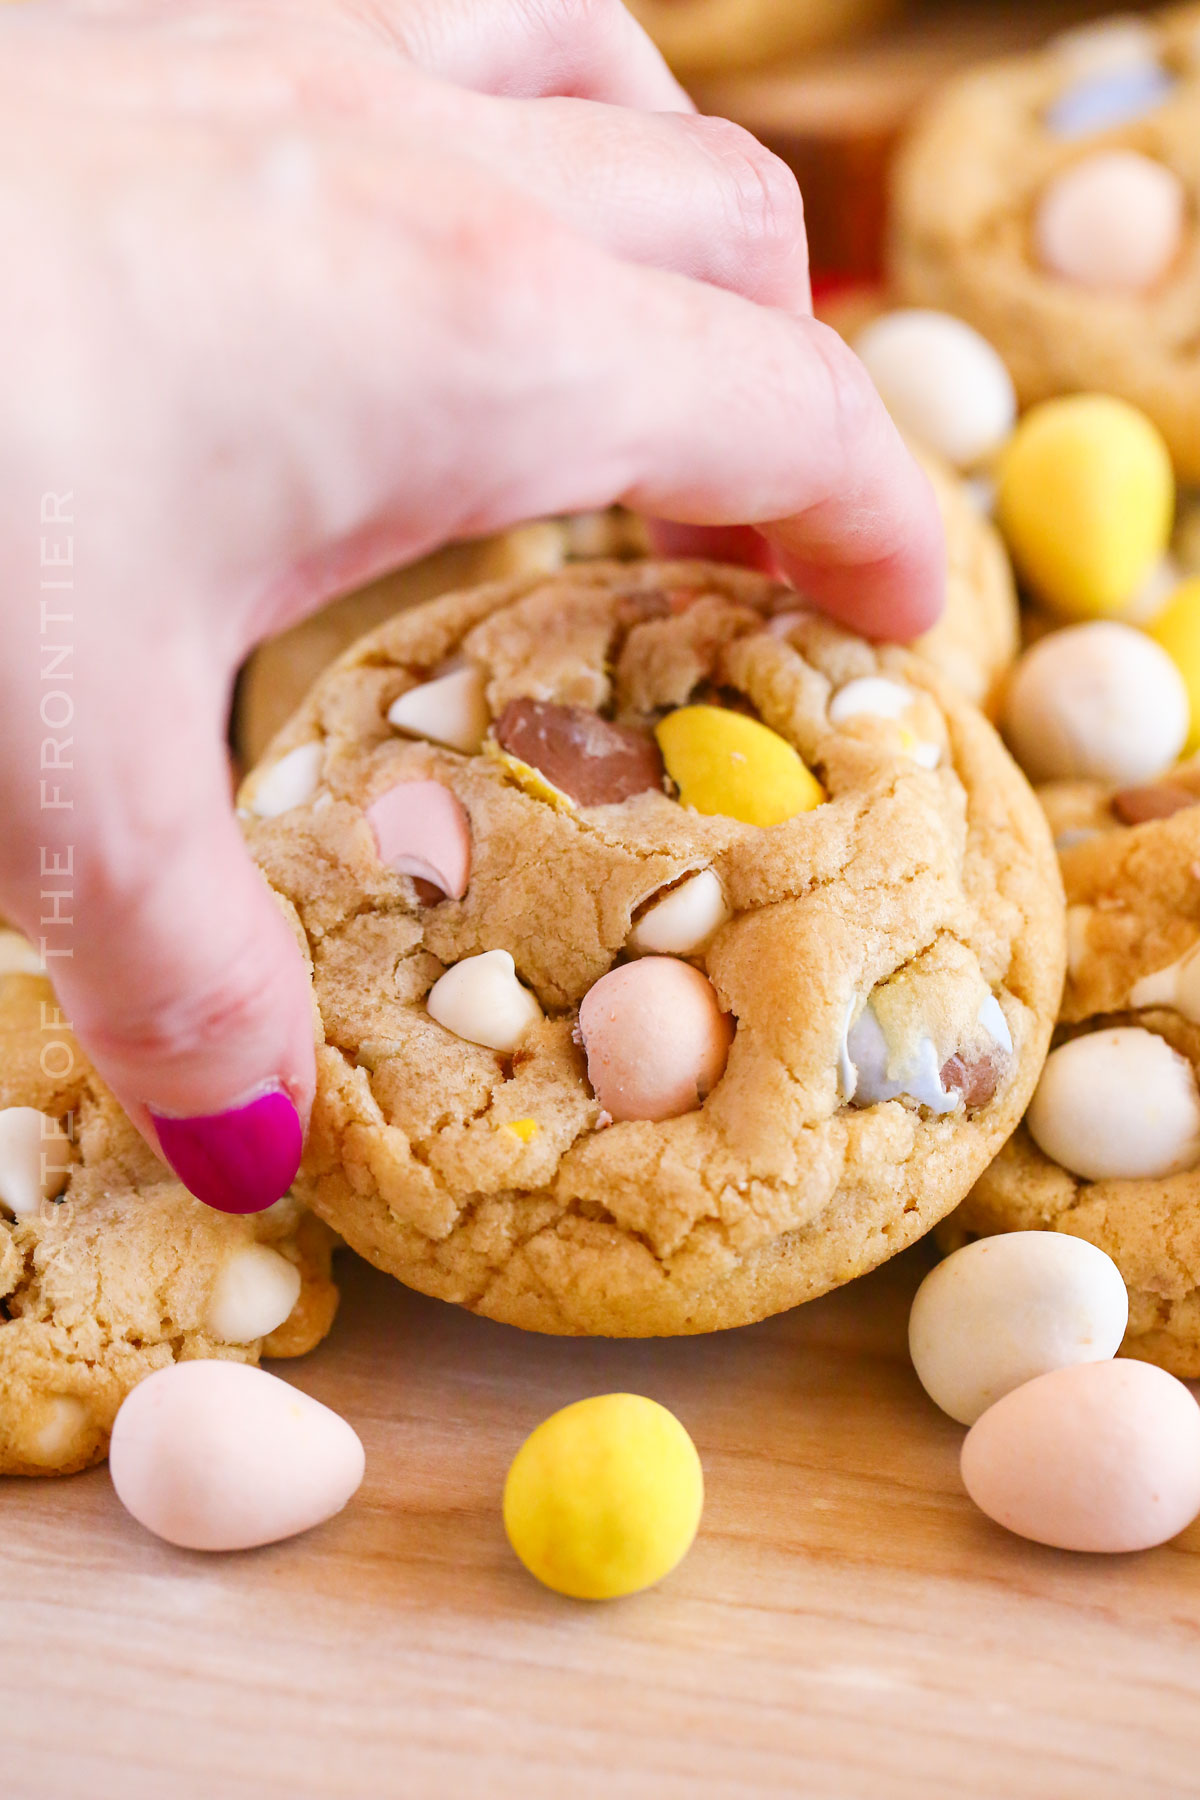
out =
[[883,313],[855,351],[900,428],[957,468],[982,463],[1013,430],[1013,378],[963,319],[919,308]]

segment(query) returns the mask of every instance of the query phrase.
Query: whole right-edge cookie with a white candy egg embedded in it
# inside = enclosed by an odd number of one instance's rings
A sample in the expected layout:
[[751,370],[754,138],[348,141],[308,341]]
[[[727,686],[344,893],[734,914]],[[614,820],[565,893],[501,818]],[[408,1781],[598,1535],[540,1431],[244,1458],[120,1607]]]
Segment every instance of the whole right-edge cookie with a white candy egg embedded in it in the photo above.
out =
[[1200,767],[1047,797],[1067,846],[1058,1048],[1027,1121],[937,1237],[1088,1238],[1130,1291],[1124,1354],[1200,1377]]

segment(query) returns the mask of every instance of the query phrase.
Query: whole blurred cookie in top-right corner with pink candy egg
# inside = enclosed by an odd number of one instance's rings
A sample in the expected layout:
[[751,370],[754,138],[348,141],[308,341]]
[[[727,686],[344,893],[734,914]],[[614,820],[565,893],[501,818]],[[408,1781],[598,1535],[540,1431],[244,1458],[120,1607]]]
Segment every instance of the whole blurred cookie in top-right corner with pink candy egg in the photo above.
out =
[[1200,479],[1200,7],[950,81],[892,180],[898,295],[995,344],[1022,403],[1141,407]]

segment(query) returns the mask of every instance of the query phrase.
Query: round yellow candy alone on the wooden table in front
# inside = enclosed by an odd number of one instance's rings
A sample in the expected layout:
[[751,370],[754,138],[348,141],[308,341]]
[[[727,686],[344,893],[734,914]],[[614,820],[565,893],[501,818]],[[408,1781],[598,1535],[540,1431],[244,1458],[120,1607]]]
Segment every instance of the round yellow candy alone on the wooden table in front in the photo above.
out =
[[552,1413],[504,1483],[513,1550],[576,1600],[615,1600],[662,1580],[691,1550],[702,1510],[696,1445],[666,1406],[639,1393]]

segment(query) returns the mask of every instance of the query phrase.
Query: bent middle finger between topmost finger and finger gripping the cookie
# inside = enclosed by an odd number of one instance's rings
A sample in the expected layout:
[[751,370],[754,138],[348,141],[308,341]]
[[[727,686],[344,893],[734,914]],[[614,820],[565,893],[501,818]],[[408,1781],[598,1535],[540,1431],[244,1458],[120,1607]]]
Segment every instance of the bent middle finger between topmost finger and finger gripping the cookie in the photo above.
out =
[[795,176],[727,119],[587,101],[471,101],[462,140],[619,257],[811,311]]

